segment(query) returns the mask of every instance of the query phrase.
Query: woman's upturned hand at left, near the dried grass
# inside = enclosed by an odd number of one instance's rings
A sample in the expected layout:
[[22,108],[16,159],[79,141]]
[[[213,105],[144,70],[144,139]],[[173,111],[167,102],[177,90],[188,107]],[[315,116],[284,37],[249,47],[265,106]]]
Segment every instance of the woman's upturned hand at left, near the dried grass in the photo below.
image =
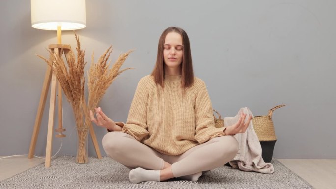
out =
[[90,117],[91,117],[91,121],[93,123],[95,123],[98,126],[101,127],[105,127],[106,129],[110,130],[110,131],[115,131],[118,130],[119,127],[115,124],[115,122],[108,118],[102,111],[102,108],[98,107],[98,108],[94,108],[94,110],[96,111],[96,117],[94,117],[93,112],[90,110]]

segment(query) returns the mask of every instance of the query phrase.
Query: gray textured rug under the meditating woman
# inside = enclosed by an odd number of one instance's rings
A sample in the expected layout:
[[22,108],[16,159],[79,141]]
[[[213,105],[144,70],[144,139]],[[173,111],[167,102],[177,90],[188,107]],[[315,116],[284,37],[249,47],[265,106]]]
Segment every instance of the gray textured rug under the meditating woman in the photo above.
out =
[[313,189],[305,180],[273,159],[273,174],[244,172],[222,166],[205,173],[198,182],[169,180],[132,184],[129,170],[104,157],[90,157],[88,164],[76,164],[74,157],[61,156],[52,166],[38,165],[0,181],[0,189]]

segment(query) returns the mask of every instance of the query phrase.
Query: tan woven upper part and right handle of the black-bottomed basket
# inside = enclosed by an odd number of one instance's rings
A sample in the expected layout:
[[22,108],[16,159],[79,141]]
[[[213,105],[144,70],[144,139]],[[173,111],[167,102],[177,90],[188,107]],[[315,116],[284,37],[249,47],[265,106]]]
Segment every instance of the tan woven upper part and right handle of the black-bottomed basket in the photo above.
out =
[[257,134],[259,141],[274,141],[277,136],[274,132],[274,125],[272,121],[272,113],[275,109],[281,108],[285,105],[278,105],[268,111],[268,115],[255,116],[252,119],[252,124]]

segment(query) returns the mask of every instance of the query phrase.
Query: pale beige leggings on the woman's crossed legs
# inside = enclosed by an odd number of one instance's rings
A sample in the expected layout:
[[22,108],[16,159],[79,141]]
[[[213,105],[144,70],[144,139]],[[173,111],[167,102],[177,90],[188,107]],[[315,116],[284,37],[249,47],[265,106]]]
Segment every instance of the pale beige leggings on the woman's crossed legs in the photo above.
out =
[[142,167],[161,170],[164,161],[171,164],[174,177],[181,177],[220,167],[237,154],[238,142],[233,136],[216,137],[183,154],[162,154],[123,132],[109,132],[102,140],[106,154],[129,169]]

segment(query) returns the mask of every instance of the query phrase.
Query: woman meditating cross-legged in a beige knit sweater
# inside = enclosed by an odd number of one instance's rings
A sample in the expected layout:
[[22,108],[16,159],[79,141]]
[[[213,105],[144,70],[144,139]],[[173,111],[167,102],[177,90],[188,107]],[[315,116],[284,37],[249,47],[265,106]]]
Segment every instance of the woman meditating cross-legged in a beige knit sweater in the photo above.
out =
[[[203,171],[232,160],[251,116],[224,128],[214,126],[204,81],[194,77],[187,33],[168,27],[161,35],[155,68],[137,86],[127,122],[114,122],[101,108],[91,120],[108,129],[106,154],[131,169],[132,183],[170,178],[197,181]],[[245,122],[246,119],[246,122]]]

